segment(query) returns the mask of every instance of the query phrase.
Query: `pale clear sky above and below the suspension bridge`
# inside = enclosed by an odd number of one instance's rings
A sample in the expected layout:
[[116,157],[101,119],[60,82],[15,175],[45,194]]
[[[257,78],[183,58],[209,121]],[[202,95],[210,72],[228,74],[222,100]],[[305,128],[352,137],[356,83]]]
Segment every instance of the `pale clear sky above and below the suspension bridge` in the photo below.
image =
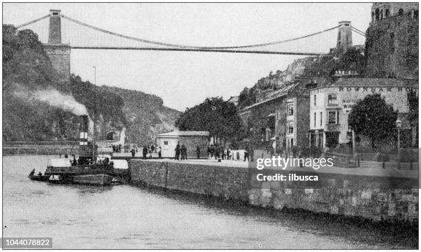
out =
[[[365,31],[370,8],[371,3],[3,3],[3,23],[19,25],[58,9],[72,19],[136,38],[226,46],[296,38],[339,21],[352,21]],[[83,34],[78,39],[89,44],[94,38]],[[364,38],[354,33],[353,42],[363,44]],[[316,43],[334,47],[336,31]],[[296,58],[301,56],[72,49],[71,71],[94,82],[96,66],[96,84],[155,94],[165,106],[184,111],[208,97],[239,95]]]

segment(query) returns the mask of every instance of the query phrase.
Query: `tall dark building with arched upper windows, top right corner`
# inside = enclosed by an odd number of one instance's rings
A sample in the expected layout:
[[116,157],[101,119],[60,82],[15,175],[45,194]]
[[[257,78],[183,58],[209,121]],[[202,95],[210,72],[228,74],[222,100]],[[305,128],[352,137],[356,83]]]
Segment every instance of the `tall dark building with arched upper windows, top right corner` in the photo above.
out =
[[418,3],[373,3],[367,77],[418,78]]

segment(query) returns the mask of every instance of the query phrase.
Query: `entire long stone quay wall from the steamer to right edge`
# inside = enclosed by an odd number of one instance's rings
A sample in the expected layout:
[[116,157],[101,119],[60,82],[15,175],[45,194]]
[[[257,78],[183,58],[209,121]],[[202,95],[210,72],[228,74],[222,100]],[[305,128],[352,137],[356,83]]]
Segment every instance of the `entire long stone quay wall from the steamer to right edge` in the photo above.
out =
[[292,184],[296,182],[257,181],[254,173],[258,171],[244,167],[139,159],[131,159],[129,166],[135,185],[219,196],[257,207],[305,209],[370,220],[418,218],[418,179],[331,173],[323,175],[317,189],[304,189],[296,186],[299,183]]

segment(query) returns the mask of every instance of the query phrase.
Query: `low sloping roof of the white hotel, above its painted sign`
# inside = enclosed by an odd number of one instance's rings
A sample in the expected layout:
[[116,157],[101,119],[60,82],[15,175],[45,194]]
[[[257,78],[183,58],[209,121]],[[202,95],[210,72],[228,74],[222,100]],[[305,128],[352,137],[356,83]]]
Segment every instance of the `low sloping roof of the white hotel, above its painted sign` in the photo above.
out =
[[330,82],[319,87],[418,87],[418,80],[391,78],[338,78],[338,80],[334,82]]

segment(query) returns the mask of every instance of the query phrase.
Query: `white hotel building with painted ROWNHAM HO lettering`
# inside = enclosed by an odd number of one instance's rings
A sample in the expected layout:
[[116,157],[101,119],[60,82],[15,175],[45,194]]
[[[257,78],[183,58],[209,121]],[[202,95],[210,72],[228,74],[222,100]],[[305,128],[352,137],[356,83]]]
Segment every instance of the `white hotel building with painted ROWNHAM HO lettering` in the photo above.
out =
[[[351,141],[348,116],[352,106],[372,93],[380,93],[404,120],[411,91],[418,95],[417,80],[338,78],[318,85],[310,90],[310,146],[334,148]],[[403,129],[409,129],[408,122],[403,125]]]

